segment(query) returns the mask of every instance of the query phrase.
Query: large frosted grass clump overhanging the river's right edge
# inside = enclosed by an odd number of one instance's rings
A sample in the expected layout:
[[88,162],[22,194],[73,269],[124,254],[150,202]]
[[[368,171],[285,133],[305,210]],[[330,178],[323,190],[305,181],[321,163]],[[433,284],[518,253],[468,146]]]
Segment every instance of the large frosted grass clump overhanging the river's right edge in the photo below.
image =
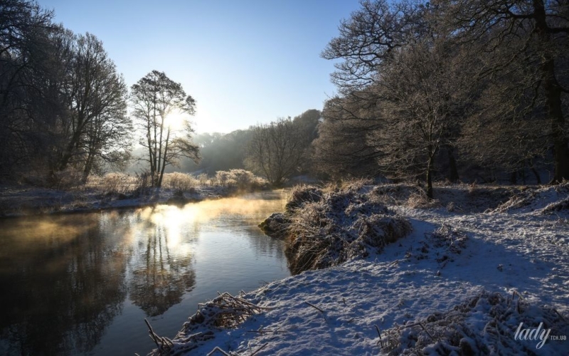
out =
[[313,187],[292,192],[287,203],[285,253],[293,274],[335,266],[351,258],[381,252],[411,231],[374,194],[346,188],[324,193]]

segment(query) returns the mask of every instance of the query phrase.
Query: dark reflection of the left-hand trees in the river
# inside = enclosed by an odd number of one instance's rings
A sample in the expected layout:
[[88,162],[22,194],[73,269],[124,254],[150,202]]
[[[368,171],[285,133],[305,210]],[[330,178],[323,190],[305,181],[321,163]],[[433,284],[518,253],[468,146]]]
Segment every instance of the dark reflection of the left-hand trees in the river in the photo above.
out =
[[126,258],[102,234],[98,217],[43,218],[25,230],[1,226],[0,338],[8,349],[0,353],[88,352],[121,312]]

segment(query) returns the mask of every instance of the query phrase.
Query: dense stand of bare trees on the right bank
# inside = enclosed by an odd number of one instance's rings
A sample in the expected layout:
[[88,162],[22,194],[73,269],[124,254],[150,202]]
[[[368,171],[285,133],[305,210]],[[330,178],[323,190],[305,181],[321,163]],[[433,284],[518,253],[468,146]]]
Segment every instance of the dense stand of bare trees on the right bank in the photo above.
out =
[[340,61],[316,157],[429,197],[460,167],[569,179],[568,35],[567,1],[363,0],[321,53]]

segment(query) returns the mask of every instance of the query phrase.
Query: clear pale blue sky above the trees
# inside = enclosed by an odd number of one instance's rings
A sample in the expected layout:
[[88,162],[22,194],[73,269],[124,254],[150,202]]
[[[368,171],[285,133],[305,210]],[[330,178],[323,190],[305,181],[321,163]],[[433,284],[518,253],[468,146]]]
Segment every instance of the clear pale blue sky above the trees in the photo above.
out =
[[161,70],[197,101],[197,132],[230,132],[321,110],[335,88],[320,58],[357,0],[39,0],[103,41],[134,84]]

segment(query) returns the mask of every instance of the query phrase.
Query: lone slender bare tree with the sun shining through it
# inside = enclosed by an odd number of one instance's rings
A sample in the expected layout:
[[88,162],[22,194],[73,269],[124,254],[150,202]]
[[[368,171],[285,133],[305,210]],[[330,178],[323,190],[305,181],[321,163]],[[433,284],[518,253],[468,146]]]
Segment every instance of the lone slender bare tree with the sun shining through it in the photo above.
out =
[[186,120],[178,132],[168,122],[176,111],[186,115],[196,112],[196,101],[186,96],[180,83],[164,72],[152,70],[132,85],[132,105],[133,115],[144,132],[140,144],[148,152],[144,160],[149,162],[154,187],[161,187],[164,169],[169,164],[178,164],[179,158],[188,157],[198,162],[199,147],[191,142],[190,122]]

